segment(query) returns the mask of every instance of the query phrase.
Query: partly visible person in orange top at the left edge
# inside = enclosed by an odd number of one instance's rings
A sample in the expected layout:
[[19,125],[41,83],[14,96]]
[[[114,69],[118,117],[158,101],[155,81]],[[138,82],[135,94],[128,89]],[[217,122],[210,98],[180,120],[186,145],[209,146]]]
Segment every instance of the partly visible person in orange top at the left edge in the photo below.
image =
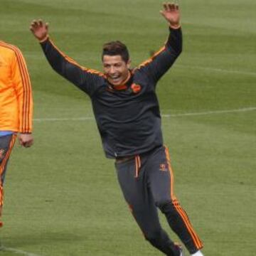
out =
[[16,137],[21,146],[33,144],[31,81],[21,50],[0,41],[0,227],[4,177]]

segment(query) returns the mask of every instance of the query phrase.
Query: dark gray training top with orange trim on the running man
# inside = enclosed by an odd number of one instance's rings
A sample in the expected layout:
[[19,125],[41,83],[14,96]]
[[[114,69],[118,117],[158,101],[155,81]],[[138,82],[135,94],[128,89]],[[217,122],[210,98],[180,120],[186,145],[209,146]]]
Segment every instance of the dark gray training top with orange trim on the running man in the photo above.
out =
[[41,42],[52,68],[90,96],[102,145],[108,158],[146,153],[163,144],[156,83],[182,50],[181,28],[169,28],[166,44],[133,70],[118,87],[105,74],[84,68],[47,38]]

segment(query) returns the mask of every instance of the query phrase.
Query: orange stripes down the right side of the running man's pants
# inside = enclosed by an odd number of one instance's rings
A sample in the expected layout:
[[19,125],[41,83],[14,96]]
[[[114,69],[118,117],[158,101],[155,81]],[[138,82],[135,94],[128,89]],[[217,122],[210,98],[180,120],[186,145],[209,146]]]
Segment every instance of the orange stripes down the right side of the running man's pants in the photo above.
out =
[[198,235],[196,235],[196,232],[193,230],[190,220],[188,219],[188,215],[186,215],[186,212],[183,210],[183,208],[181,208],[180,204],[178,203],[176,196],[174,196],[174,174],[171,169],[171,158],[169,155],[169,149],[166,146],[165,146],[165,152],[166,152],[167,164],[168,164],[169,172],[170,172],[170,176],[171,176],[171,201],[173,202],[174,208],[176,209],[177,213],[181,216],[183,223],[186,225],[188,233],[190,233],[194,244],[196,245],[196,247],[199,250],[203,247],[203,243],[198,238]]

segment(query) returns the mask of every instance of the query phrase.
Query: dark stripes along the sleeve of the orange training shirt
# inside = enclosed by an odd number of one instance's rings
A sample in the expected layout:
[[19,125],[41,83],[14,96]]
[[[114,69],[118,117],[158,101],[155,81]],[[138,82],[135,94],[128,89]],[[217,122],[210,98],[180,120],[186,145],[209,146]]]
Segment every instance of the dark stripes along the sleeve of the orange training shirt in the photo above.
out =
[[22,124],[21,132],[29,132],[31,130],[31,127],[29,125],[29,119],[30,119],[29,117],[31,116],[31,112],[30,112],[31,111],[31,97],[30,97],[31,81],[29,79],[28,71],[26,68],[26,62],[20,50],[18,50],[18,48],[6,43],[1,43],[1,46],[4,46],[6,48],[13,50],[16,55],[16,59],[18,62],[18,69],[20,70],[21,81],[23,86],[23,114],[22,114],[22,120],[21,120],[21,124]]

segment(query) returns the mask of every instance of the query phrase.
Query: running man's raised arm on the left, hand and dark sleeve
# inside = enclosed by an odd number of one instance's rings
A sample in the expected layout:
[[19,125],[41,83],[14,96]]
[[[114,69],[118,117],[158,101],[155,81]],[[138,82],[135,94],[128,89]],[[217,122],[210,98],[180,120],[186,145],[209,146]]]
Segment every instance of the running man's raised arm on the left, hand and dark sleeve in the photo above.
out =
[[48,23],[33,21],[31,31],[41,43],[43,52],[53,70],[73,82],[80,90],[92,95],[97,89],[97,84],[104,79],[103,73],[80,66],[75,60],[58,50],[48,36]]

